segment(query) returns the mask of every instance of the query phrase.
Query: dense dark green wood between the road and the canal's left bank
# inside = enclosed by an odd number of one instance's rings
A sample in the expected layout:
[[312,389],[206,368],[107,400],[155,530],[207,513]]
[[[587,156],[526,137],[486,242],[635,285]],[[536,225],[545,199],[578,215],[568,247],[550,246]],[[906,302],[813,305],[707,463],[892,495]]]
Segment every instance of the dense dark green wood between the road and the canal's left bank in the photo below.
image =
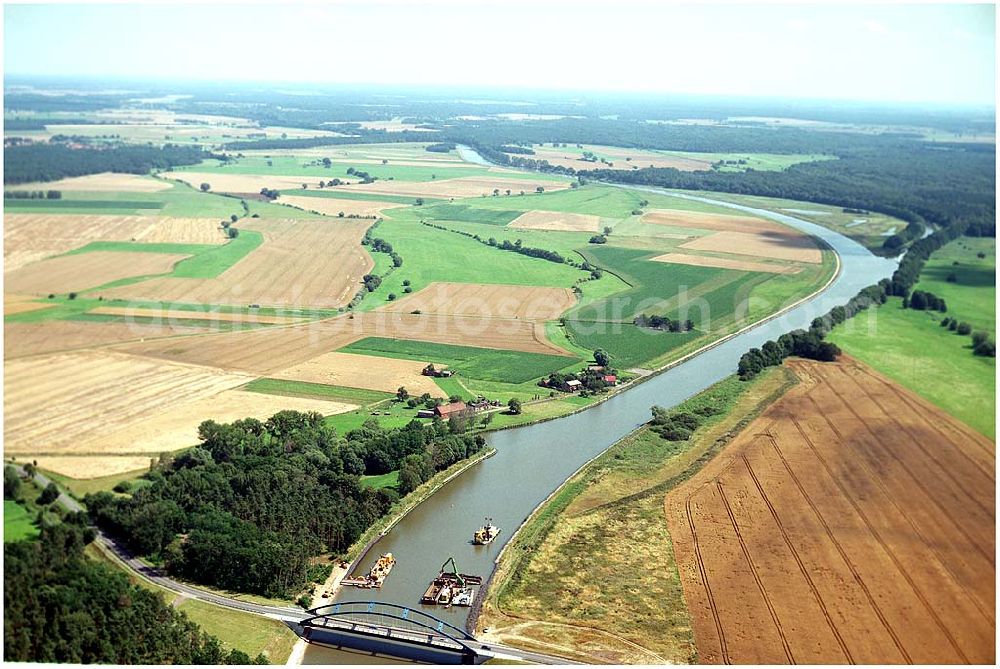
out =
[[311,557],[345,551],[398,499],[395,490],[362,487],[360,475],[402,468],[412,488],[485,446],[442,421],[388,430],[370,419],[338,438],[319,414],[295,411],[265,422],[206,421],[199,437],[130,497],[88,495],[87,508],[169,573],[269,597],[301,590]]

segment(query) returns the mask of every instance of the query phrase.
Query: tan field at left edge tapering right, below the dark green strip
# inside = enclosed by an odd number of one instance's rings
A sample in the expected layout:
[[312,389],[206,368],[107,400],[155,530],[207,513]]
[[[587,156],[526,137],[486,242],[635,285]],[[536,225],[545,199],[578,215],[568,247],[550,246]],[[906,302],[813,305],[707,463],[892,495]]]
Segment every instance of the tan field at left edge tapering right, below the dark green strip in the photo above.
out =
[[179,253],[94,251],[39,260],[4,274],[4,286],[33,295],[96,288],[111,281],[147,274],[166,274],[189,256]]

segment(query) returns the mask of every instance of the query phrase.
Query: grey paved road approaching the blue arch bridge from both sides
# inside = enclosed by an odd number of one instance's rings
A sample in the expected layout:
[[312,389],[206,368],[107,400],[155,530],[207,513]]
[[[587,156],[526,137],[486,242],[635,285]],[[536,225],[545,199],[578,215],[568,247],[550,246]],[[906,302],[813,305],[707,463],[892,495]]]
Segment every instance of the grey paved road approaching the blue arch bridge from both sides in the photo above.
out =
[[[22,475],[24,475],[24,468],[21,465],[14,464],[14,467]],[[53,483],[49,477],[37,471],[35,472],[35,482],[43,488],[50,483]],[[66,494],[62,488],[59,489],[59,497],[56,498],[56,501],[68,511],[84,511],[83,506],[77,500]],[[291,625],[298,624],[303,618],[306,617],[305,610],[297,606],[266,606],[264,604],[254,604],[253,602],[245,602],[231,597],[226,597],[224,595],[217,595],[213,592],[208,592],[207,590],[202,590],[201,588],[195,588],[185,583],[175,581],[174,579],[165,576],[159,569],[150,567],[149,565],[143,563],[139,560],[139,558],[132,555],[124,546],[115,541],[114,538],[108,536],[100,530],[97,530],[97,541],[99,541],[104,548],[117,557],[122,564],[135,572],[141,578],[144,578],[161,588],[184,595],[190,599],[197,599],[210,604],[215,604],[216,606],[223,606],[229,609],[243,611],[245,613],[252,613],[259,616],[265,616],[267,618],[273,618]],[[486,651],[487,653],[501,653],[503,655],[508,655],[528,662],[537,662],[539,664],[575,664],[562,658],[543,655],[541,653],[533,653],[531,651],[511,648],[499,644],[470,643],[470,645],[474,648],[478,647],[479,650]]]

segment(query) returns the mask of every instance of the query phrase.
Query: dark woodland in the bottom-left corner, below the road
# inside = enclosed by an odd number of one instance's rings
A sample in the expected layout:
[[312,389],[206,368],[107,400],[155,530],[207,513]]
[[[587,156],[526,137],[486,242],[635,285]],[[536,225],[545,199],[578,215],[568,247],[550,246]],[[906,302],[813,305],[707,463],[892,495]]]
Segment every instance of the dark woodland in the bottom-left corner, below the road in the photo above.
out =
[[267,664],[219,640],[124,573],[84,556],[84,518],[5,543],[3,655],[8,662]]

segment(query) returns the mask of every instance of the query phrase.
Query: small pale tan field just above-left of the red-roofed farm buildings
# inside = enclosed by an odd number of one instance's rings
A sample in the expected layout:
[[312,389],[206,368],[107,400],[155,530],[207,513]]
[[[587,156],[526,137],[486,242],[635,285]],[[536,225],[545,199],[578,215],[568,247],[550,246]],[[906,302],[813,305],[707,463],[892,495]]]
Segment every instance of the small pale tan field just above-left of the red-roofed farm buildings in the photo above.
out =
[[430,393],[441,395],[441,389],[434,379],[420,373],[426,360],[399,360],[355,353],[324,353],[323,355],[299,363],[272,374],[274,378],[325,383],[349,388],[367,388],[394,393],[405,386],[411,395]]

